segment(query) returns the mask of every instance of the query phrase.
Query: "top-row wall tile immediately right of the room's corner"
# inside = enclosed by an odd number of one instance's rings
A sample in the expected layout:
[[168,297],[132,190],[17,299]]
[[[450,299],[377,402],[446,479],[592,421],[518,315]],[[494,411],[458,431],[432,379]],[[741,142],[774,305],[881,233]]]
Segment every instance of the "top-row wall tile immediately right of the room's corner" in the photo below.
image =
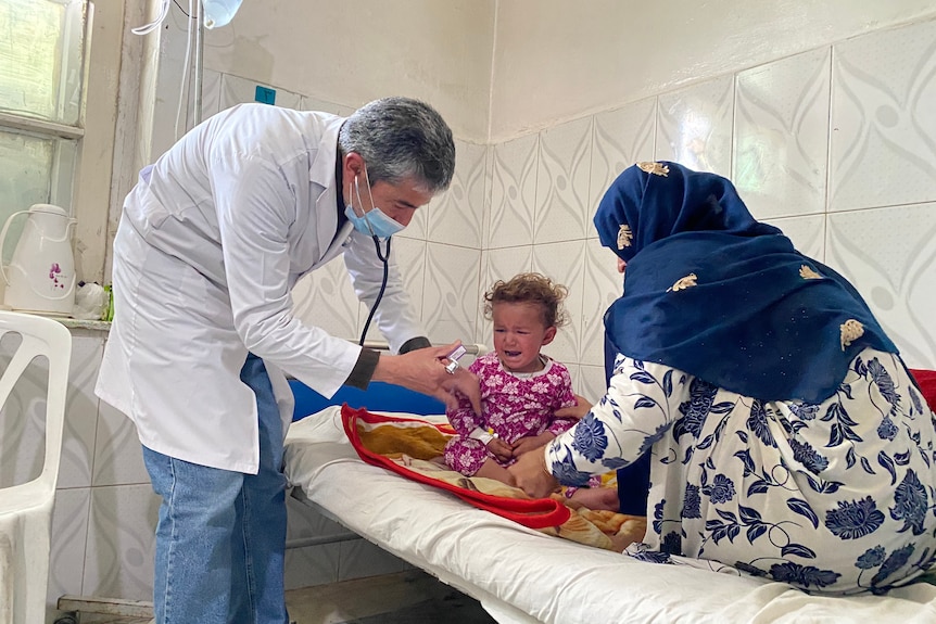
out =
[[491,238],[486,247],[533,242],[539,137],[494,145],[491,179]]

